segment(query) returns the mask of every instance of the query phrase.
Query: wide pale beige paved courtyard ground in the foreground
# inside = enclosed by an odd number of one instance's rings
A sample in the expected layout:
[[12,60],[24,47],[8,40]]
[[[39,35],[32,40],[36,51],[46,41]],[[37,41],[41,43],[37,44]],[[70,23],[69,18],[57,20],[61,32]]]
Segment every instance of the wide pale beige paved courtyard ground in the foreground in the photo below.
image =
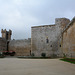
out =
[[59,59],[0,59],[0,75],[75,75],[75,64]]

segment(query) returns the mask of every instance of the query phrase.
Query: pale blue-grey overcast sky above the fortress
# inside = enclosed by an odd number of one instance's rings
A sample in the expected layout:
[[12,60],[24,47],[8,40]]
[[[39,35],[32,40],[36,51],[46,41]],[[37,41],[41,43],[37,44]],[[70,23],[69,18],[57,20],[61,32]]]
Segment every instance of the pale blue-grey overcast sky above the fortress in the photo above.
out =
[[0,0],[0,30],[11,29],[12,39],[30,38],[32,26],[74,16],[75,0]]

